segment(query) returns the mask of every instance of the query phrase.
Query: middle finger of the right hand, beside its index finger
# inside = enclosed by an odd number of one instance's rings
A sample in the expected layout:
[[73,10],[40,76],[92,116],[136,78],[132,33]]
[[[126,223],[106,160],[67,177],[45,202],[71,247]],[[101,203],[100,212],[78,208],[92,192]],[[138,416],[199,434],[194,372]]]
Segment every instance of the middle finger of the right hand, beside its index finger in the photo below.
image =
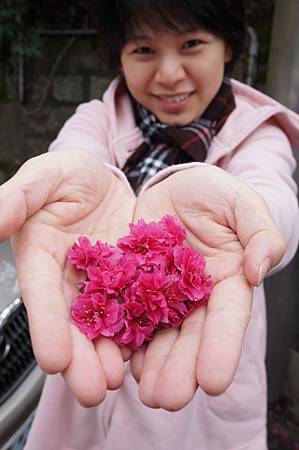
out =
[[168,411],[178,411],[197,389],[196,367],[206,308],[198,308],[184,320],[179,336],[159,376],[155,399]]

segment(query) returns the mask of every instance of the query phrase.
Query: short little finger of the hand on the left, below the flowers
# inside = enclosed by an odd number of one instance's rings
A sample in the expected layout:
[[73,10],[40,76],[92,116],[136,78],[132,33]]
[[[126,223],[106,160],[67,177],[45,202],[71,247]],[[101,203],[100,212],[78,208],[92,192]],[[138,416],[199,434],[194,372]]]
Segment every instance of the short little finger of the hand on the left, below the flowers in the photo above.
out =
[[95,341],[95,350],[106,375],[107,388],[118,389],[125,376],[124,361],[118,345],[104,336]]

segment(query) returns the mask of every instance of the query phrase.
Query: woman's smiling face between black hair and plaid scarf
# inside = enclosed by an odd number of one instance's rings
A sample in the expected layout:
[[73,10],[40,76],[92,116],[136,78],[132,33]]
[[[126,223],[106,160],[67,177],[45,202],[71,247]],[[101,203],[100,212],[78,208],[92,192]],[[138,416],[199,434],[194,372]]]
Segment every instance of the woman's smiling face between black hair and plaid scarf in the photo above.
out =
[[203,30],[142,31],[125,44],[121,66],[137,102],[165,124],[197,119],[218,92],[230,50]]

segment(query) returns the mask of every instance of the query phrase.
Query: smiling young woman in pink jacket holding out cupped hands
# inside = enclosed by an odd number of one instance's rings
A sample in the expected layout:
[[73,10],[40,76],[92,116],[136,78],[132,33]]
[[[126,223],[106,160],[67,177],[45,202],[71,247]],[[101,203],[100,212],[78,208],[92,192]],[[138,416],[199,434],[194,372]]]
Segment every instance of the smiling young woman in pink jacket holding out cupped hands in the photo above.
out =
[[[242,1],[95,3],[117,77],[0,190],[38,362],[63,373],[46,381],[26,449],[265,450],[262,281],[297,248],[298,116],[229,79]],[[134,353],[87,341],[70,325],[67,249],[166,213],[206,256],[208,307]]]

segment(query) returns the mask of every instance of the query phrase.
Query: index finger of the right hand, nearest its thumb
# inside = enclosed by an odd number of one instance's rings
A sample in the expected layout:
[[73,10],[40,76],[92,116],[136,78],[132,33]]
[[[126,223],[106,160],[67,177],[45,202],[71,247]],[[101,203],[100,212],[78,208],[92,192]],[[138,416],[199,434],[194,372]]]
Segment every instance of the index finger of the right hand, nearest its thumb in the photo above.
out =
[[222,394],[233,380],[251,305],[252,289],[245,276],[234,276],[214,286],[197,364],[197,382],[209,395]]

